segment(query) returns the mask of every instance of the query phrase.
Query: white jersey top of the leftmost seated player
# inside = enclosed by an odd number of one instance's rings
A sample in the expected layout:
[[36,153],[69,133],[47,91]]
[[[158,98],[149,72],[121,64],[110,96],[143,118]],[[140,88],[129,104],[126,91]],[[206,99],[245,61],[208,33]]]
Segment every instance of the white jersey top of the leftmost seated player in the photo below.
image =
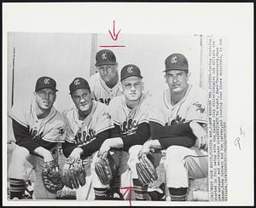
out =
[[66,120],[61,113],[52,107],[47,117],[38,119],[35,105],[36,101],[28,103],[25,107],[15,105],[9,116],[28,128],[32,138],[39,136],[47,142],[65,142]]

